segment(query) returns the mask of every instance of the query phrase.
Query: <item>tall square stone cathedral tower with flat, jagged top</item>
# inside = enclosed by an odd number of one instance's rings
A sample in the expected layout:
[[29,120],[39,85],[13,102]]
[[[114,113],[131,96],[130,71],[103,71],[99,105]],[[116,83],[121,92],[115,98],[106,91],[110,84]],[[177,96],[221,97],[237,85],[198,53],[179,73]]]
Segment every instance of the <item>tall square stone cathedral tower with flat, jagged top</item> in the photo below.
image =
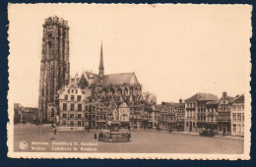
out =
[[69,27],[58,17],[45,19],[42,27],[38,110],[39,118],[45,122],[48,106],[54,105],[58,90],[69,83]]

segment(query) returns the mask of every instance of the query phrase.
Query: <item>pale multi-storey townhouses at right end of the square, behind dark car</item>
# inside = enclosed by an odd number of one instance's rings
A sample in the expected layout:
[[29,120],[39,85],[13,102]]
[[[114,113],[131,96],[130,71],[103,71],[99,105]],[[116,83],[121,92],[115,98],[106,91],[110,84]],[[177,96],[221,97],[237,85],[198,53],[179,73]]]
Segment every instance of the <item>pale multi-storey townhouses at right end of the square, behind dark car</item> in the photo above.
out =
[[185,100],[186,132],[211,129],[227,135],[244,135],[244,94],[221,99],[210,93],[197,93]]

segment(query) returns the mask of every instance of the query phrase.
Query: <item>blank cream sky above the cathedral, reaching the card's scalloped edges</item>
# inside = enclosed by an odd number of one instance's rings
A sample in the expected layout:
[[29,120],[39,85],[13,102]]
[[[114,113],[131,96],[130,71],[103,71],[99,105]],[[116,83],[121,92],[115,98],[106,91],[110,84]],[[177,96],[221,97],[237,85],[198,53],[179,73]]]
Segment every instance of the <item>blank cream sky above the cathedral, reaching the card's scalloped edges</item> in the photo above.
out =
[[143,91],[177,102],[197,92],[246,93],[250,81],[249,5],[9,5],[9,101],[37,107],[42,25],[70,27],[71,76],[135,72]]

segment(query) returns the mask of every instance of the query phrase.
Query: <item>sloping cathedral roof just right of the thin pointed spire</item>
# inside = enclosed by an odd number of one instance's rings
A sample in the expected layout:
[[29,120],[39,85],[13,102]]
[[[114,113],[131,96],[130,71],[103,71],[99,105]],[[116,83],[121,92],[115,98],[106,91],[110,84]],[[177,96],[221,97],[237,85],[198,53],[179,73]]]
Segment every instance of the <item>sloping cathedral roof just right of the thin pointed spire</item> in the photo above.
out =
[[129,84],[129,83],[139,83],[139,82],[133,72],[106,75],[103,77],[103,80],[102,80],[103,85],[123,84],[123,83]]

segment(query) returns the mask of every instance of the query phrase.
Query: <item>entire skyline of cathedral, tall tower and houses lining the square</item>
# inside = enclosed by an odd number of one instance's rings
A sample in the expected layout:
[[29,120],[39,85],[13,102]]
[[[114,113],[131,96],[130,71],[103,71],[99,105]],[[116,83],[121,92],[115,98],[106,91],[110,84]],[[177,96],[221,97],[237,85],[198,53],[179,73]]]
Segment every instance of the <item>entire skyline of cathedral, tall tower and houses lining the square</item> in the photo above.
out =
[[224,92],[219,99],[197,93],[177,103],[157,104],[156,95],[143,93],[134,72],[104,74],[102,43],[98,73],[83,72],[70,78],[67,21],[50,17],[42,27],[40,122],[56,122],[62,129],[104,129],[112,121],[119,121],[121,126],[135,129],[213,129],[243,134],[243,95],[233,98]]

